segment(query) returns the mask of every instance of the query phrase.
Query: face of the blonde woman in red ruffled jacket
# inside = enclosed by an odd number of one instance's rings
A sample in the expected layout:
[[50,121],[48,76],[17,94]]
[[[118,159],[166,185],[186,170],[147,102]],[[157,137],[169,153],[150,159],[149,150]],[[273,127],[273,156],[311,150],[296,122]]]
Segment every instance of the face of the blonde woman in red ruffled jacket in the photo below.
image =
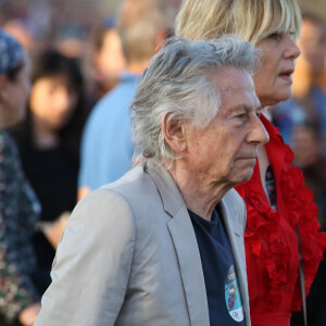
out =
[[262,106],[276,104],[292,96],[292,73],[300,49],[294,33],[275,33],[260,40],[262,66],[253,76]]

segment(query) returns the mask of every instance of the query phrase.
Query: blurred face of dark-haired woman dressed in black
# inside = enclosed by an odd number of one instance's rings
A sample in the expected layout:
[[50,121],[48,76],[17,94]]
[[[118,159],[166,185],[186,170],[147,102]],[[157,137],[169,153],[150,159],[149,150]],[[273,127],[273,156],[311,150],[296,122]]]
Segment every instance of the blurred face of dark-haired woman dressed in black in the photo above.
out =
[[46,76],[33,84],[29,108],[34,121],[54,131],[70,122],[77,100],[77,91],[71,89],[64,76]]

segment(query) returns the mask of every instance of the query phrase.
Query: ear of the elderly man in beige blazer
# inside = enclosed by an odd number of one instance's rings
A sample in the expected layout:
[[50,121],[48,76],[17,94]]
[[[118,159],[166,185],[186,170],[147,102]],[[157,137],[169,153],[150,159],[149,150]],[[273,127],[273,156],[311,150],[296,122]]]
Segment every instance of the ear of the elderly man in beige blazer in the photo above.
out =
[[187,149],[186,126],[177,118],[171,118],[167,113],[161,118],[161,128],[165,141],[176,154],[181,154]]

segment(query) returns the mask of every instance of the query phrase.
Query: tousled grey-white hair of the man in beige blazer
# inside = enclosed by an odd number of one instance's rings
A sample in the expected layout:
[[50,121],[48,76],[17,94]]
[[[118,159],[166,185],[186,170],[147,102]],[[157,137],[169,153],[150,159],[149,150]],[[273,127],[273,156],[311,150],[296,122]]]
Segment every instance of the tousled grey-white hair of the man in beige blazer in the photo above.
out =
[[168,114],[170,120],[204,129],[221,104],[220,80],[212,75],[228,66],[252,75],[256,61],[253,46],[231,35],[209,41],[168,39],[142,74],[130,105],[134,163],[149,158],[159,163],[177,159],[164,139],[161,120]]

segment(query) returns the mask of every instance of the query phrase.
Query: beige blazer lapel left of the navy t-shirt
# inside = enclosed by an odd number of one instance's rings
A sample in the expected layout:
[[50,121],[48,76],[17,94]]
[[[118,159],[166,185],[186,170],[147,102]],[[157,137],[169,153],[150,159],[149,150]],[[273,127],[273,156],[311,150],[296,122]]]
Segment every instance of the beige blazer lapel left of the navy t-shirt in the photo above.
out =
[[165,212],[172,217],[167,228],[179,262],[191,325],[209,326],[209,305],[200,252],[183,197],[164,166],[159,167],[149,161],[146,171],[161,193]]

